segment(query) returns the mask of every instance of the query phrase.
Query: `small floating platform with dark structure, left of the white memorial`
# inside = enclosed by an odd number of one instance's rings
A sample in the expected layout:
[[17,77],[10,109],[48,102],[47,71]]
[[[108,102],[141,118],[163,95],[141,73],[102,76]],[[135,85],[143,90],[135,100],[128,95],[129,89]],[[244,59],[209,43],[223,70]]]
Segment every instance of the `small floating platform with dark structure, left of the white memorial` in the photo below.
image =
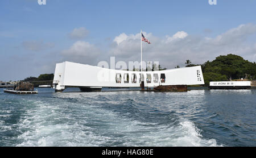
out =
[[12,94],[37,94],[38,91],[34,91],[34,85],[30,82],[18,82],[14,85],[13,89],[3,90],[5,93]]

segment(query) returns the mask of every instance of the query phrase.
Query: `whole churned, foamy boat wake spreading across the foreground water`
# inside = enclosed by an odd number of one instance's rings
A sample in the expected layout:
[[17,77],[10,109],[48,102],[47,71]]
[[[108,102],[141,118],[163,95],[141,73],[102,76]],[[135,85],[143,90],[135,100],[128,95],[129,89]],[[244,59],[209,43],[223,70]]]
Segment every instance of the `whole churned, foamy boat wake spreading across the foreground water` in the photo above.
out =
[[27,105],[18,127],[22,134],[16,146],[217,146],[190,120],[97,93],[36,101]]

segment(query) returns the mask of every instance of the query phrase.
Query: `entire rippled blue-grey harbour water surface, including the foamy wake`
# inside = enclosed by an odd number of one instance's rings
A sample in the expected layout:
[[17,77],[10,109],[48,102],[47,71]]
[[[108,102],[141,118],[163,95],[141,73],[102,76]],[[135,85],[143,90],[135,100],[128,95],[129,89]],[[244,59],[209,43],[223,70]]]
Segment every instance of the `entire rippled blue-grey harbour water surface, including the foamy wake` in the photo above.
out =
[[[0,146],[255,146],[256,90],[0,89]],[[71,90],[73,91],[73,90]]]

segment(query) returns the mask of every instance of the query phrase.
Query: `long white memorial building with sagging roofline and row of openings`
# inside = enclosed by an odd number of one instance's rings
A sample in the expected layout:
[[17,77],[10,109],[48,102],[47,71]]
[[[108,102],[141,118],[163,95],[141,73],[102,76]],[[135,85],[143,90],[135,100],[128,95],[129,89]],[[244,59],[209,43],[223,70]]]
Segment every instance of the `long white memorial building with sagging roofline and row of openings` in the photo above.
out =
[[[121,83],[115,82],[115,75],[121,74]],[[124,74],[129,74],[129,83],[124,82]],[[131,74],[137,75],[137,83],[131,83]],[[126,70],[114,70],[100,68],[97,66],[71,63],[56,64],[55,76],[53,83],[58,83],[56,89],[63,89],[64,86],[86,86],[86,87],[139,87],[139,74],[141,72],[133,72]],[[189,68],[179,68],[170,70],[161,70],[154,72],[142,72],[144,75],[144,85],[146,87],[154,87],[159,85],[200,85],[204,84],[201,66]],[[154,83],[154,73],[158,74],[159,81]],[[160,83],[160,74],[166,74],[166,82]],[[151,74],[151,83],[146,82],[147,74]]]

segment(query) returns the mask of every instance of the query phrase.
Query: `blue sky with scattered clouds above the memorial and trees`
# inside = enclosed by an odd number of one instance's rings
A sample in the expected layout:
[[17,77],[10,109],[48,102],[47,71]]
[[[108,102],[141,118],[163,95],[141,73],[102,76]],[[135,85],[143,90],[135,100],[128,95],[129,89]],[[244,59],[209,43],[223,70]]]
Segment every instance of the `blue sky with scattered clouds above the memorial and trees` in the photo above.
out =
[[54,73],[72,61],[203,64],[229,53],[256,61],[256,0],[2,0],[0,81]]

